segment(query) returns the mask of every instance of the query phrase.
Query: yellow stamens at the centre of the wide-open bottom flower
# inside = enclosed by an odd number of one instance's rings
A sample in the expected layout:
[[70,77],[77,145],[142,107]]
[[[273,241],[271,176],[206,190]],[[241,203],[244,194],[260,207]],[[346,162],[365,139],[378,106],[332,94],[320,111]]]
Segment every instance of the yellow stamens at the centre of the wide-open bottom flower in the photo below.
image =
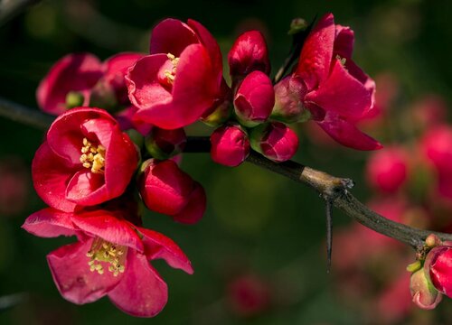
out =
[[124,273],[126,269],[127,246],[118,246],[96,237],[86,255],[90,258],[88,265],[91,272],[104,274],[104,267],[100,262],[108,263],[108,271],[114,276]]

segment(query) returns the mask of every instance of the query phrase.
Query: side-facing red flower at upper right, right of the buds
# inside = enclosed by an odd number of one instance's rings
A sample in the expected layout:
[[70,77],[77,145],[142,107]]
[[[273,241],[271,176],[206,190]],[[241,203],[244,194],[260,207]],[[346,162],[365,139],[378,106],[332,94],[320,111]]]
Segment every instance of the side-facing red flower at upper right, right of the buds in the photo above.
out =
[[292,78],[313,119],[340,144],[358,150],[381,144],[355,124],[371,113],[375,83],[353,62],[353,31],[325,14],[309,33]]

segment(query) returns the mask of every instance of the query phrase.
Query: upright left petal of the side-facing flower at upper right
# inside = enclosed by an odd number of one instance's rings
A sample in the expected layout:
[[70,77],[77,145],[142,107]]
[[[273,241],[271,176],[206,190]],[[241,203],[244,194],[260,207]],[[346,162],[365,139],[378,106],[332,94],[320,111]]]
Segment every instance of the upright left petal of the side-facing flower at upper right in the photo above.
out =
[[305,81],[308,91],[318,87],[328,77],[334,36],[334,16],[325,14],[306,38],[296,74]]

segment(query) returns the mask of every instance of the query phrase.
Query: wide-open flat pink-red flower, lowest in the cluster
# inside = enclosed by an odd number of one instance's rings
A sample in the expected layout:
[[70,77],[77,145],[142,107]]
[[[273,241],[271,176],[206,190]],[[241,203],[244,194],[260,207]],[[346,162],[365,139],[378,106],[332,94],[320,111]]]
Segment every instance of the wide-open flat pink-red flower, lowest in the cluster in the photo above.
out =
[[148,261],[193,274],[188,258],[174,242],[127,220],[125,209],[87,209],[65,213],[42,209],[25,220],[23,228],[38,237],[76,236],[78,242],[47,255],[61,295],[84,304],[108,296],[121,311],[153,317],[167,302],[167,286]]

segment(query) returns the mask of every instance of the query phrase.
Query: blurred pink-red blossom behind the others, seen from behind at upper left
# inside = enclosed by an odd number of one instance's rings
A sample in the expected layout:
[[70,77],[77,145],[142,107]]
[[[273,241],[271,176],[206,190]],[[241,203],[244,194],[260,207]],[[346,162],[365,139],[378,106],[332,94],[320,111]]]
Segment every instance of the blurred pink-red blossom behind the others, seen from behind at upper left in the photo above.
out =
[[89,53],[68,54],[42,79],[36,92],[38,104],[52,115],[72,107],[130,107],[124,76],[142,56],[125,52],[100,62]]

